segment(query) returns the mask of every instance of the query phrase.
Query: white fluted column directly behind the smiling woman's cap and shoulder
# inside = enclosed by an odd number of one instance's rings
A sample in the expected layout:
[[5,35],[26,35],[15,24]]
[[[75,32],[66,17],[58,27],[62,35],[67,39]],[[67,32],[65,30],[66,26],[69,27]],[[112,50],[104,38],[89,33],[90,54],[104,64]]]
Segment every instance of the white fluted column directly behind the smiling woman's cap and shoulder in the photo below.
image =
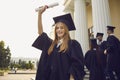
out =
[[85,0],[74,0],[75,39],[80,42],[83,53],[89,49]]

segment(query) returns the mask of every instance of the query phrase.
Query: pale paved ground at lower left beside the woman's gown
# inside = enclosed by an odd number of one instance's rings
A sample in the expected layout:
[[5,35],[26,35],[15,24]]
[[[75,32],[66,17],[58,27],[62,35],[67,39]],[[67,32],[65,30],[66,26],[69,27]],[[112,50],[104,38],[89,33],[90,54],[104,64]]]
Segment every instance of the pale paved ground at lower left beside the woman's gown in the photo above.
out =
[[[9,71],[7,75],[0,76],[0,80],[35,80],[36,70]],[[84,80],[89,80],[89,75],[85,75]]]

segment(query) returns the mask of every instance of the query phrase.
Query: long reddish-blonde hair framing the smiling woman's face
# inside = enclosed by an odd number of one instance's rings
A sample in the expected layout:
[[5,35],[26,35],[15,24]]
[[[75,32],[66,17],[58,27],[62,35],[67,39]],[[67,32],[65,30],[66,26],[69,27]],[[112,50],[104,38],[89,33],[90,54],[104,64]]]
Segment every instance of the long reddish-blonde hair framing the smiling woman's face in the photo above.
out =
[[[68,41],[70,40],[70,34],[69,34],[69,30],[67,28],[67,25],[64,24],[63,22],[61,22],[63,24],[63,28],[65,29],[65,34],[63,36],[63,43],[60,46],[60,50],[59,52],[65,52],[68,49]],[[57,24],[57,23],[56,23]],[[50,55],[53,51],[54,46],[57,44],[58,42],[58,36],[56,34],[56,25],[55,25],[55,29],[54,29],[54,34],[55,34],[55,38],[50,46],[50,48],[48,49],[48,54]]]

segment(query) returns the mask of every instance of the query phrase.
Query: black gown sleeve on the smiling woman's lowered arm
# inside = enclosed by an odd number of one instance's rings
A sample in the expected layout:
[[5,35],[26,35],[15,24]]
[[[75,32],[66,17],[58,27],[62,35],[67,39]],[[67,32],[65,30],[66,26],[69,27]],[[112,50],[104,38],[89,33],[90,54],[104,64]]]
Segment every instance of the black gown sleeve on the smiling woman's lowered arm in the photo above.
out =
[[72,41],[70,58],[72,62],[70,74],[73,75],[75,80],[82,80],[85,75],[84,57],[81,45],[76,40]]

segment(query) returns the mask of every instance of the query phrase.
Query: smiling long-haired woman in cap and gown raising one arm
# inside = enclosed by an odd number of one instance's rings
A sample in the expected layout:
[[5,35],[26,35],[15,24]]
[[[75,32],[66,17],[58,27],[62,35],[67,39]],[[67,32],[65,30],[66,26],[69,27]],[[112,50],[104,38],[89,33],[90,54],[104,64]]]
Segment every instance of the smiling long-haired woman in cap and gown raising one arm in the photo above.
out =
[[54,17],[55,39],[52,40],[43,32],[42,13],[47,9],[43,6],[38,12],[38,38],[32,44],[42,51],[36,80],[83,80],[84,57],[81,45],[71,40],[69,31],[75,30],[70,14]]

